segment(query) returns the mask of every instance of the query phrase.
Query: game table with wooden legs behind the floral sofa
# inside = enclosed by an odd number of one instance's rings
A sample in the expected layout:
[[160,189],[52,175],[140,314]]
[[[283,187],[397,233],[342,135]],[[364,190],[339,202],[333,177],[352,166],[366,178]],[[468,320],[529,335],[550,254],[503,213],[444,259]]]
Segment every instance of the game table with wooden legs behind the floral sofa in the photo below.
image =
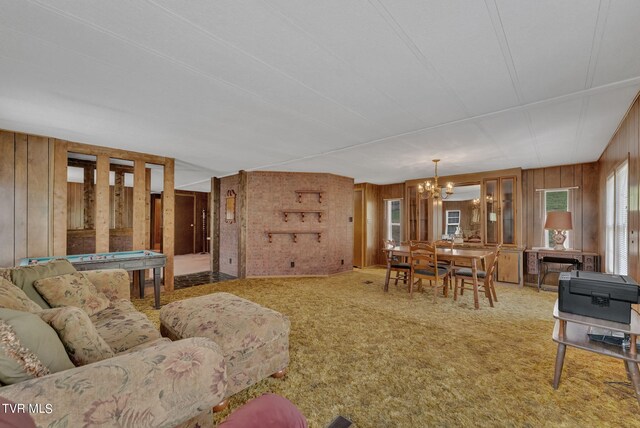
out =
[[121,251],[115,253],[74,254],[57,257],[27,257],[20,266],[44,264],[55,259],[67,259],[77,270],[124,269],[135,272],[140,284],[140,298],[144,297],[145,271],[153,269],[153,293],[155,308],[160,308],[160,274],[167,264],[167,256],[149,250]]

